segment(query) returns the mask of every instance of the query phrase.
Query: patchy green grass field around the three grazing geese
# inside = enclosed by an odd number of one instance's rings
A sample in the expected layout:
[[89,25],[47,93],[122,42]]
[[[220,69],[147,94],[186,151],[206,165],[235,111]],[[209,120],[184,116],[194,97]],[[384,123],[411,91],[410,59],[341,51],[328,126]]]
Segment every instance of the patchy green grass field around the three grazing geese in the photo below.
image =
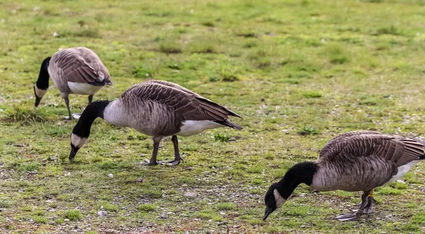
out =
[[[271,183],[333,136],[424,136],[423,1],[2,0],[0,19],[1,233],[425,232],[425,163],[378,189],[361,221],[333,219],[360,192],[305,185],[261,219]],[[42,59],[77,46],[113,77],[95,100],[171,81],[242,115],[244,130],[180,138],[183,163],[147,167],[148,136],[97,119],[70,163],[76,121],[52,82],[35,110],[33,83]],[[81,112],[87,99],[70,103]]]

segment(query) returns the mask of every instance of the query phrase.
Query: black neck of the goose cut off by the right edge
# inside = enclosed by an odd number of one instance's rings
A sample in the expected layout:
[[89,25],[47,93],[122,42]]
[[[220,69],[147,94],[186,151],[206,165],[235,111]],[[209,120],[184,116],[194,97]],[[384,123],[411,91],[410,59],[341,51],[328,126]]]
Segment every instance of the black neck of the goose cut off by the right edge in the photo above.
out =
[[302,162],[290,168],[282,180],[278,182],[277,189],[284,199],[288,199],[295,188],[301,183],[311,185],[314,174],[317,172],[317,164],[313,162]]

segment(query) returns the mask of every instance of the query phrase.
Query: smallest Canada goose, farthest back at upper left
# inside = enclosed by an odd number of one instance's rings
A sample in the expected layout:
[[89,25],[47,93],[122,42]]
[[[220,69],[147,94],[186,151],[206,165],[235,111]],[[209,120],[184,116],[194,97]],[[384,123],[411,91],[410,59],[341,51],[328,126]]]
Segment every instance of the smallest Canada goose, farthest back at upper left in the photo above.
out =
[[68,99],[70,93],[89,95],[90,104],[98,90],[112,85],[108,69],[91,49],[62,49],[44,59],[41,64],[38,80],[34,84],[35,107],[38,107],[49,88],[49,76],[65,100],[69,119],[72,119]]

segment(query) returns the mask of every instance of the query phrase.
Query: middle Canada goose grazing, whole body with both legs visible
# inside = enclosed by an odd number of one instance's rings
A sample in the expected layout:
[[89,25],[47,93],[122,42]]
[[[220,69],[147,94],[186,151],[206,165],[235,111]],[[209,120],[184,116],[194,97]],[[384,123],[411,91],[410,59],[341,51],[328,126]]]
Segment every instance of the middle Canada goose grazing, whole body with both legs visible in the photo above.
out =
[[177,135],[191,136],[217,127],[242,129],[229,121],[229,115],[240,118],[231,110],[175,83],[145,81],[126,90],[117,100],[96,101],[86,107],[72,130],[69,160],[73,160],[89,137],[94,119],[101,117],[110,124],[131,127],[152,136],[154,150],[147,165],[157,164],[159,141],[164,136],[172,136],[174,160],[168,163],[178,165],[181,158]]

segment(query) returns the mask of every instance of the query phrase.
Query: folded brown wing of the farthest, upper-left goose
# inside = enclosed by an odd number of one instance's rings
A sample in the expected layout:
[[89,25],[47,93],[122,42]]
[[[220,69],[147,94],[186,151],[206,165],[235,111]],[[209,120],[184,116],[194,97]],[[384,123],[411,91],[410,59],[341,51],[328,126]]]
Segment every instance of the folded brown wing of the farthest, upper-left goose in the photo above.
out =
[[86,47],[62,49],[53,54],[51,63],[62,70],[67,81],[95,83],[98,86],[111,85],[111,76],[101,59]]

